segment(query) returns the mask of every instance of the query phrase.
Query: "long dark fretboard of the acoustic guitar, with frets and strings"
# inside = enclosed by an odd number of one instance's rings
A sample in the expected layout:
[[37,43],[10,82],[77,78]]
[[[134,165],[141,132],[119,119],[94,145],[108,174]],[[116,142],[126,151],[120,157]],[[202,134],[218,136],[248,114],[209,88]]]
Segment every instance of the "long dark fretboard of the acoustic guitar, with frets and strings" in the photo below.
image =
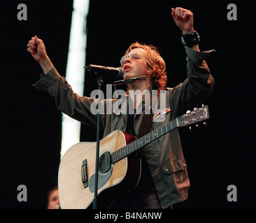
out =
[[164,134],[171,132],[171,130],[178,127],[178,123],[182,120],[181,116],[174,119],[173,121],[167,123],[166,125],[163,125],[160,128],[157,128],[156,130],[145,134],[143,137],[136,139],[135,141],[131,142],[127,146],[124,146],[120,148],[118,151],[115,151],[111,154],[112,157],[112,163],[118,162],[119,160],[122,160],[122,158],[127,157],[127,155],[134,153],[139,148],[142,148],[143,146],[150,144],[150,142],[154,141],[155,139],[162,137]]

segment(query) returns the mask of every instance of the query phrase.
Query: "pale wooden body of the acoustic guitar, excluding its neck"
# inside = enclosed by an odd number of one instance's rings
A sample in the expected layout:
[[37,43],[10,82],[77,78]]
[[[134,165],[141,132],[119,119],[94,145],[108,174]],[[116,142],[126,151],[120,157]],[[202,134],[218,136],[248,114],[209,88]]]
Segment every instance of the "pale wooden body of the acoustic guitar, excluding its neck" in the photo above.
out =
[[[115,130],[100,141],[99,157],[106,152],[118,151],[135,139],[136,137]],[[92,208],[96,148],[96,142],[80,142],[69,148],[62,157],[58,176],[59,202],[62,209]],[[87,187],[84,186],[81,174],[84,160],[87,163]],[[98,187],[97,208],[109,208],[116,198],[137,185],[140,176],[141,160],[133,154],[111,164],[108,171],[99,172],[98,183],[101,188]]]

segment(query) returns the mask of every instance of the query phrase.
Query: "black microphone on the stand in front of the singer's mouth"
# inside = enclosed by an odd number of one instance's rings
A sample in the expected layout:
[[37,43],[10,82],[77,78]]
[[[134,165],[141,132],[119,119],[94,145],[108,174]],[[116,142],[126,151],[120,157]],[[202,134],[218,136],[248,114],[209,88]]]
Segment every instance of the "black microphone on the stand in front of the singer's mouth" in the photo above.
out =
[[115,77],[122,77],[124,70],[122,68],[111,68],[106,66],[92,65],[84,66],[89,72],[94,72],[97,75],[113,75]]

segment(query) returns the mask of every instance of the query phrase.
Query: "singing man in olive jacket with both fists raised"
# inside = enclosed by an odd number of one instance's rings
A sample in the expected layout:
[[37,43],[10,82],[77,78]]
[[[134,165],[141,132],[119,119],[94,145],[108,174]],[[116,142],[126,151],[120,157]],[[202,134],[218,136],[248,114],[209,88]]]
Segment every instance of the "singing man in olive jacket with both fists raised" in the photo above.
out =
[[[129,91],[157,90],[160,95],[165,91],[166,107],[160,114],[165,118],[159,121],[159,116],[152,116],[152,123],[148,132],[169,123],[184,114],[187,109],[198,107],[211,93],[214,79],[204,59],[212,51],[200,52],[199,35],[194,31],[193,13],[184,8],[171,8],[174,22],[182,31],[182,41],[187,54],[187,79],[173,88],[166,87],[167,76],[164,59],[157,48],[143,43],[132,43],[120,60],[124,70],[124,79],[145,76],[146,82],[131,82],[127,88],[127,102]],[[178,37],[180,38],[180,37]],[[43,41],[37,36],[29,40],[28,52],[43,68],[44,75],[34,86],[55,97],[57,108],[65,114],[87,125],[97,126],[97,115],[92,114],[90,107],[95,98],[77,95],[71,89],[66,79],[59,75],[52,65]],[[160,97],[159,97],[160,98]],[[157,100],[160,100],[160,99]],[[116,102],[118,98],[112,99]],[[104,100],[106,104],[106,100]],[[132,114],[101,114],[101,128],[104,137],[121,130],[135,137],[143,128],[141,122],[145,113],[143,98],[131,100],[134,107]],[[142,104],[142,112],[137,112]],[[128,108],[127,108],[128,109]],[[157,120],[158,119],[158,120]],[[157,121],[156,121],[157,120]],[[178,130],[164,134],[155,141],[143,147],[141,156],[141,177],[134,188],[115,199],[108,208],[171,208],[174,203],[185,201],[190,180],[187,176],[187,163],[180,145]]]

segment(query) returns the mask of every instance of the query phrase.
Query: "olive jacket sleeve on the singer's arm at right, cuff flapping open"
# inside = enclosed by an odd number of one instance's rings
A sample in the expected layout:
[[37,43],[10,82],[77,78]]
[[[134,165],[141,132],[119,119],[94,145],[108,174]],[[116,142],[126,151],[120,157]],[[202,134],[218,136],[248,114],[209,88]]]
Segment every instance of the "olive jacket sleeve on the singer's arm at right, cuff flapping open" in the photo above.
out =
[[187,109],[199,107],[213,90],[214,78],[206,64],[206,57],[215,50],[197,52],[185,47],[187,52],[187,79],[171,91],[175,116],[185,114]]

